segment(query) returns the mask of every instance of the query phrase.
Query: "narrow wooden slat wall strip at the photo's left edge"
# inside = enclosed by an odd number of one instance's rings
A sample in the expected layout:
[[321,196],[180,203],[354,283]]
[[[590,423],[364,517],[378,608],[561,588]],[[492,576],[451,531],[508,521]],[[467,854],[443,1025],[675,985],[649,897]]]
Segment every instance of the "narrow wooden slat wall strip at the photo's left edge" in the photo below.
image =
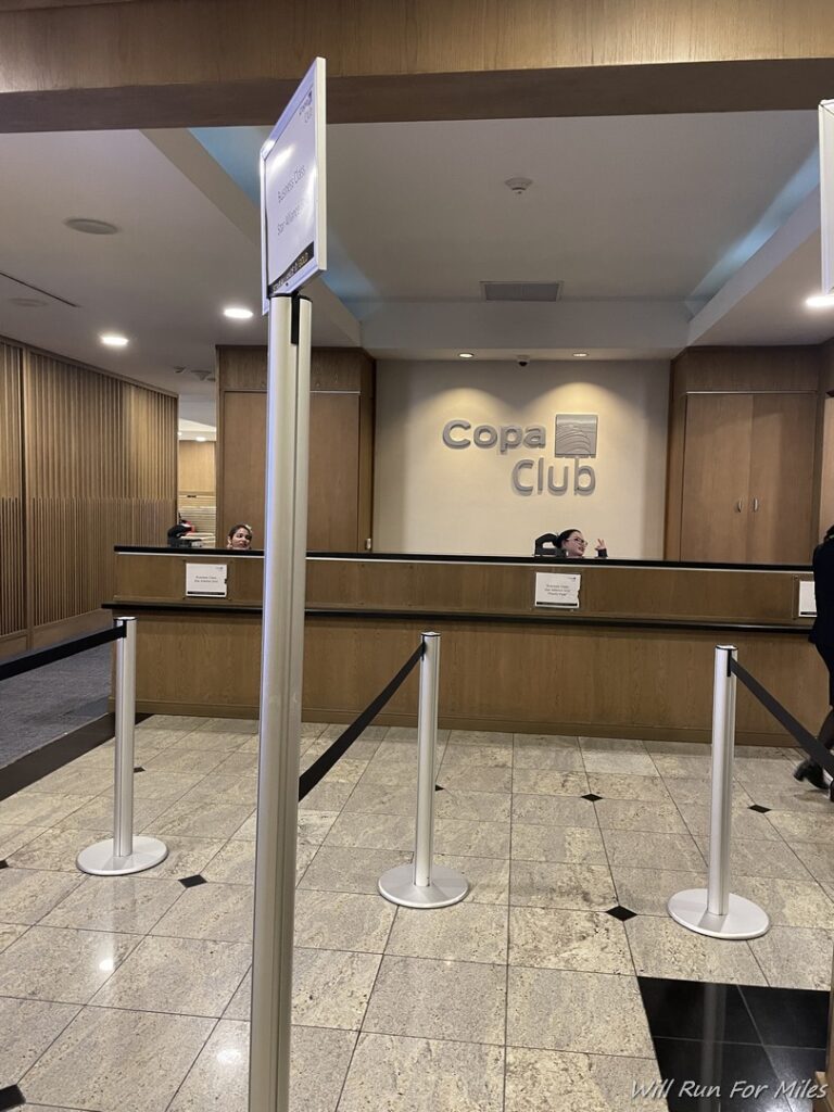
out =
[[20,361],[0,344],[0,638],[26,629]]

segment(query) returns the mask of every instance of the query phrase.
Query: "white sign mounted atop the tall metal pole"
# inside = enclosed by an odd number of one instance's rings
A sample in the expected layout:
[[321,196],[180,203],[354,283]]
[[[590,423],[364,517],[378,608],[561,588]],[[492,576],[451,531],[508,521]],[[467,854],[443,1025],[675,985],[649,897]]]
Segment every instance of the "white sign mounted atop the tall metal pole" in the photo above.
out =
[[325,59],[307,70],[260,149],[264,312],[327,269]]

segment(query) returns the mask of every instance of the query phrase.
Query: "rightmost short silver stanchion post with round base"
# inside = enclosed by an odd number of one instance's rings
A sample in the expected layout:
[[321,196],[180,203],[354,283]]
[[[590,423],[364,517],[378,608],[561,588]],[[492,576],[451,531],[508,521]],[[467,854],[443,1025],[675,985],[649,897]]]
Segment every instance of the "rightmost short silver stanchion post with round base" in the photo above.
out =
[[758,904],[729,891],[736,695],[731,664],[735,658],[734,645],[716,645],[707,886],[676,892],[667,909],[676,923],[696,934],[741,940],[765,934],[771,921]]

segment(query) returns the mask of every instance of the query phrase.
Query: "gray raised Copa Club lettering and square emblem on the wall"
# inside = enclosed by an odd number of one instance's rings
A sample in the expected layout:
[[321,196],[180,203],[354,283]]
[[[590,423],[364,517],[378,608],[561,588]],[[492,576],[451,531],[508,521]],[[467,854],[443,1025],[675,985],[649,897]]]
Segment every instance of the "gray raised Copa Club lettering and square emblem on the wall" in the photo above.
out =
[[539,449],[543,454],[537,457],[525,453],[523,458],[514,460],[510,471],[513,490],[524,497],[566,495],[570,492],[587,497],[596,489],[596,474],[590,464],[580,460],[596,458],[598,420],[596,414],[556,414],[553,455],[556,459],[572,459],[573,466],[569,463],[547,463],[548,435],[544,425],[473,427],[471,421],[456,417],[444,425],[443,443],[456,451],[467,448],[497,449],[499,455],[510,458],[524,449]]

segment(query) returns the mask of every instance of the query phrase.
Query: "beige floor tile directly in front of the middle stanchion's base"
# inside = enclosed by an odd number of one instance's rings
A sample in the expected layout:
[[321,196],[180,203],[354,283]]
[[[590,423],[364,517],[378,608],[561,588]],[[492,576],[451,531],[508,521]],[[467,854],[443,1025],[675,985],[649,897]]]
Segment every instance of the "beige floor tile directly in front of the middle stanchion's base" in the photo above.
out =
[[437,911],[400,907],[387,954],[455,962],[507,961],[507,909],[468,900]]

